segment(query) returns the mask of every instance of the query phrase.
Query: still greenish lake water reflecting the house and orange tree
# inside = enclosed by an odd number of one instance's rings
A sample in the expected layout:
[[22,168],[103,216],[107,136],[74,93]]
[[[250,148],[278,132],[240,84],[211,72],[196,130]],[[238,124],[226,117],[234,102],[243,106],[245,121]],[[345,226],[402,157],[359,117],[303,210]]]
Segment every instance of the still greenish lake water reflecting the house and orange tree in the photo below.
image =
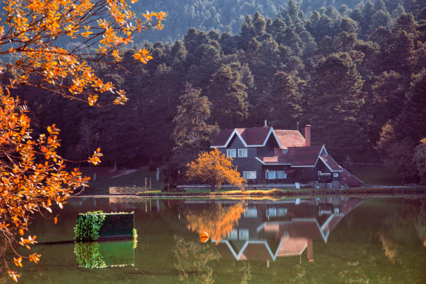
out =
[[32,230],[70,240],[93,210],[134,211],[138,243],[38,244],[19,283],[426,283],[425,197],[73,198]]

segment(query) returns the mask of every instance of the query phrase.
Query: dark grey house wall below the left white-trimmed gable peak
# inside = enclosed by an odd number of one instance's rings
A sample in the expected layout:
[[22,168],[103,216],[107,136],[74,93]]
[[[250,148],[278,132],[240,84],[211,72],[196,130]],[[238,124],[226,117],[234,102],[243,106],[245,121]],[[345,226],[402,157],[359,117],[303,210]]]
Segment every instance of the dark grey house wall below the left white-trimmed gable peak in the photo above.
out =
[[[244,171],[255,171],[256,177],[262,177],[262,164],[260,161],[255,159],[258,156],[258,148],[256,147],[245,147],[242,141],[238,138],[237,135],[234,135],[230,143],[228,144],[228,148],[219,148],[223,154],[226,155],[227,149],[235,149],[237,153],[237,157],[232,158],[232,164],[237,166],[237,170],[243,176]],[[247,149],[247,157],[238,157],[238,149]]]

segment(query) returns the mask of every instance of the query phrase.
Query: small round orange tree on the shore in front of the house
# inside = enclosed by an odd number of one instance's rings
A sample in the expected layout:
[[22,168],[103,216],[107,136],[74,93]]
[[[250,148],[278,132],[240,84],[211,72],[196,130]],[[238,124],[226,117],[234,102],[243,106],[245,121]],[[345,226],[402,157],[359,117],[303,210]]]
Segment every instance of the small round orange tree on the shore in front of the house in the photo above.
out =
[[228,182],[242,187],[244,182],[237,168],[232,165],[232,158],[221,154],[217,148],[210,152],[201,152],[196,161],[191,161],[187,167],[187,178],[210,184],[211,192],[214,192],[216,184]]

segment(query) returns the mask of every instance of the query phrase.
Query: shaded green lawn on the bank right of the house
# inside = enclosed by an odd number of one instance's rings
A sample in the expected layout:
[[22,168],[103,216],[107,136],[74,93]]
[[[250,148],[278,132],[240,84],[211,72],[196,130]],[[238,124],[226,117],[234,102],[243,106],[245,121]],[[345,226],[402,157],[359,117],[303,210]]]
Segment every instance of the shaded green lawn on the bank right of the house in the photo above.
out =
[[401,185],[401,178],[386,166],[352,166],[351,172],[365,184]]

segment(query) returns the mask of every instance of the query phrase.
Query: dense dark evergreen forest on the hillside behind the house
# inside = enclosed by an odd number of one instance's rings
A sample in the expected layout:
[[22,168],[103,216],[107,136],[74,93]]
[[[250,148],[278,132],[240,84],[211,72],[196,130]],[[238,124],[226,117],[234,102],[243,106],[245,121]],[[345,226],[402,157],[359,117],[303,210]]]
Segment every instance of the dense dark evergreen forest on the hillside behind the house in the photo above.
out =
[[68,159],[100,147],[107,165],[180,167],[219,128],[267,120],[276,129],[311,124],[313,144],[325,143],[337,161],[382,159],[402,178],[417,175],[414,149],[426,136],[425,0],[134,4],[147,9],[168,13],[164,31],[134,42],[154,59],[127,64],[128,49],[120,66],[97,69],[127,91],[125,106],[13,90],[36,133],[52,123],[62,130]]

